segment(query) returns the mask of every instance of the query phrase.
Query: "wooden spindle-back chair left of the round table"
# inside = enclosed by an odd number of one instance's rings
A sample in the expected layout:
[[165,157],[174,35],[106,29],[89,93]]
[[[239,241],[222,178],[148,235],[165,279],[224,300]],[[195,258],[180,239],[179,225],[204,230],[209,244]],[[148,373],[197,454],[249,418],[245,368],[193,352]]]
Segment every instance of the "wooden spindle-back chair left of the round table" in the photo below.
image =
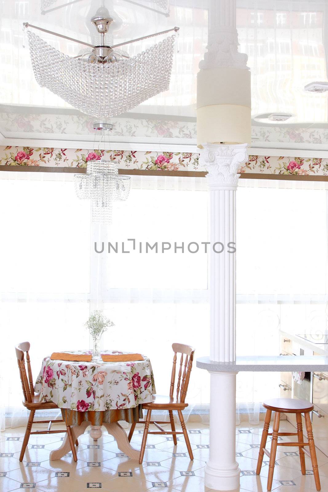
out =
[[[19,375],[21,377],[23,394],[24,394],[23,405],[28,410],[30,410],[29,421],[23,439],[22,450],[19,457],[19,461],[23,461],[25,450],[29,442],[30,434],[57,434],[58,432],[67,432],[69,444],[72,450],[73,460],[77,461],[73,435],[70,426],[66,426],[66,431],[51,431],[51,424],[52,424],[51,420],[38,420],[38,421],[33,420],[36,410],[48,410],[50,408],[59,408],[59,407],[56,405],[56,403],[53,403],[52,401],[40,403],[39,395],[34,394],[33,378],[32,378],[30,355],[29,355],[30,342],[25,341],[23,343],[19,343],[17,347],[15,347],[15,350],[16,350],[16,357],[17,357],[18,368],[19,368]],[[27,372],[25,367],[24,352],[26,352]],[[56,422],[63,422],[63,420],[56,420]],[[49,425],[47,431],[31,432],[32,424],[49,424]],[[76,444],[78,444],[77,441]]]

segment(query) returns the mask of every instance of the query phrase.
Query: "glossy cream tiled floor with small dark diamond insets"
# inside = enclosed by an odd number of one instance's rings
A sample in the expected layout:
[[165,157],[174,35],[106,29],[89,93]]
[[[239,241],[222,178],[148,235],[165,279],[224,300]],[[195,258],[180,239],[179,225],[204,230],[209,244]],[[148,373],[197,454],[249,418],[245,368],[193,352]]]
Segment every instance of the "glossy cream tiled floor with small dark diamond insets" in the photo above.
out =
[[[241,469],[240,492],[267,490],[268,459],[261,475],[255,475],[256,460],[263,422],[258,426],[241,423],[236,428],[236,459]],[[177,426],[178,427],[178,426]],[[102,489],[103,492],[203,492],[204,466],[209,456],[209,427],[199,423],[187,425],[194,460],[190,461],[183,437],[175,447],[172,437],[149,435],[143,465],[123,455],[113,437],[104,430],[94,442],[85,433],[79,437],[78,461],[67,455],[49,461],[49,452],[60,446],[62,434],[31,436],[24,461],[19,452],[25,429],[8,429],[0,435],[0,492],[33,489],[35,492],[82,492]],[[282,421],[280,431],[294,431]],[[139,448],[142,428],[137,427],[131,443]],[[289,439],[283,437],[283,439]],[[286,449],[286,448],[281,448]],[[317,450],[322,491],[328,491],[328,457]],[[315,491],[310,461],[307,475],[302,476],[297,448],[278,452],[272,490],[275,492]]]

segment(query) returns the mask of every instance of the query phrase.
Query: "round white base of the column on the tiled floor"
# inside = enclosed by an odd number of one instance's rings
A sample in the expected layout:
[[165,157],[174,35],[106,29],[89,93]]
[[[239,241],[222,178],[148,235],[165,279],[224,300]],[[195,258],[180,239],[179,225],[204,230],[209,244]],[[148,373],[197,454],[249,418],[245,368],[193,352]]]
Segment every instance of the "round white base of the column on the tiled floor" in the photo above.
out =
[[227,469],[207,461],[205,466],[205,485],[215,491],[239,491],[240,468],[237,461]]

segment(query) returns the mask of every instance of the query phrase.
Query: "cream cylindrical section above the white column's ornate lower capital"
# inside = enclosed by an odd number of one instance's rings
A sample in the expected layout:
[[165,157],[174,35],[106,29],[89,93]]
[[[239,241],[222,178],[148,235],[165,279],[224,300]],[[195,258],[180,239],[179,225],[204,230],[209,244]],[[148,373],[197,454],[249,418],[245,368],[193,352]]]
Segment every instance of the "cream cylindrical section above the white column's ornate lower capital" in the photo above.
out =
[[250,71],[210,68],[197,75],[197,145],[251,141]]

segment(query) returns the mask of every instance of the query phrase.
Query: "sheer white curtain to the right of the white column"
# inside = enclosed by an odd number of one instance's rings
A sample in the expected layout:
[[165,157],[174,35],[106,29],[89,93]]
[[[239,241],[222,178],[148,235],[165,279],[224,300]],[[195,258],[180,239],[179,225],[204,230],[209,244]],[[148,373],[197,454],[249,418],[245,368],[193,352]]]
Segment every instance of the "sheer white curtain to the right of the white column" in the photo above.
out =
[[[239,180],[237,353],[278,355],[279,330],[327,326],[327,183]],[[279,373],[239,373],[240,411],[279,396]]]

